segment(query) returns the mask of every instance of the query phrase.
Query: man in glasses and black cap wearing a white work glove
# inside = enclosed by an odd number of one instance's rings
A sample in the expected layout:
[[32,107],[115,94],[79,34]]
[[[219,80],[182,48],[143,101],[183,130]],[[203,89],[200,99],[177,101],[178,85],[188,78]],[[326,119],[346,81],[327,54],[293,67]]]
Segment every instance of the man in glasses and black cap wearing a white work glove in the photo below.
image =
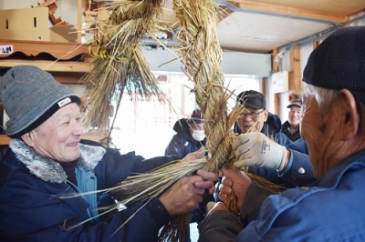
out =
[[[255,91],[241,93],[237,100],[241,105],[245,104],[247,108],[251,108],[252,112],[251,106],[255,106],[256,109],[266,107],[264,96]],[[245,112],[243,114],[235,124],[235,132],[242,139],[242,145],[235,152],[235,166],[245,167],[249,173],[265,177],[285,187],[307,186],[316,180],[306,142],[300,138],[292,143],[281,133],[278,116],[268,113],[264,123],[265,116],[257,116],[257,120],[251,120],[245,117]],[[250,129],[250,126],[253,127]],[[257,132],[260,128],[261,132]],[[241,129],[245,130],[245,133],[241,132]],[[264,146],[269,148],[266,152],[261,152]]]

